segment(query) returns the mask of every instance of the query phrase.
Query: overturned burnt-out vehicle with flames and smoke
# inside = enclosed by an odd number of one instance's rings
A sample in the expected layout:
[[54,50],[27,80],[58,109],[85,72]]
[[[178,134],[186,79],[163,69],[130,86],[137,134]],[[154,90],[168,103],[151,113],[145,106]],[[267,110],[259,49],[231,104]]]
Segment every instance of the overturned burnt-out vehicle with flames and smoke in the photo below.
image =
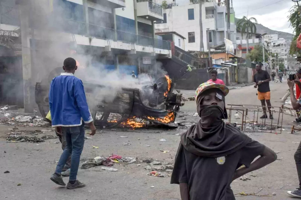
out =
[[[49,111],[50,81],[60,74],[61,70],[55,69],[48,79],[36,83],[35,101],[44,118]],[[148,121],[176,127],[169,123],[175,121],[177,112],[184,105],[182,93],[179,90],[173,92],[175,84],[167,75],[163,75],[152,84],[144,83],[140,89],[127,87],[116,89],[112,85],[85,81],[83,84],[95,126],[140,128]]]

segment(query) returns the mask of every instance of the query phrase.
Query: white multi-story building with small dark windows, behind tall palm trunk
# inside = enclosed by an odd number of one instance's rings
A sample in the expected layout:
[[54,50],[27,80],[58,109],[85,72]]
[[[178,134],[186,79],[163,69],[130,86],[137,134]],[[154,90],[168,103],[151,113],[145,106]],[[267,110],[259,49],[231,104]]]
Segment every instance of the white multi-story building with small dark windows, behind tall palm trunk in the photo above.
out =
[[[213,47],[224,42],[227,38],[227,11],[224,2],[216,0],[203,1],[201,17],[203,38],[200,38],[200,5],[198,0],[176,1],[176,0],[155,0],[163,6],[163,20],[157,20],[156,29],[169,29],[188,38],[185,41],[186,51],[200,51],[200,41],[203,40],[204,51],[209,46]],[[234,49],[236,49],[236,26],[234,22],[234,9],[230,8],[230,33]],[[208,35],[207,35],[208,32]]]

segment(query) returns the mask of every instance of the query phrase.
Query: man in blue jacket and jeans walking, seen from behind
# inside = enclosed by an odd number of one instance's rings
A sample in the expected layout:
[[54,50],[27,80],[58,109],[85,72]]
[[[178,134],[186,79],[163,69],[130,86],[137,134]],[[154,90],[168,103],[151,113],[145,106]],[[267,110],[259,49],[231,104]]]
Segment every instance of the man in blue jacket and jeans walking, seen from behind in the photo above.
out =
[[65,73],[61,73],[60,76],[51,81],[49,106],[52,127],[55,127],[58,134],[65,135],[67,145],[50,179],[58,185],[66,185],[61,177],[61,172],[71,155],[71,169],[67,188],[75,189],[85,186],[84,183],[76,180],[79,159],[85,141],[84,123],[89,124],[91,128],[90,135],[95,134],[96,128],[88,108],[82,81],[74,76],[77,69],[75,59],[66,58],[63,69]]

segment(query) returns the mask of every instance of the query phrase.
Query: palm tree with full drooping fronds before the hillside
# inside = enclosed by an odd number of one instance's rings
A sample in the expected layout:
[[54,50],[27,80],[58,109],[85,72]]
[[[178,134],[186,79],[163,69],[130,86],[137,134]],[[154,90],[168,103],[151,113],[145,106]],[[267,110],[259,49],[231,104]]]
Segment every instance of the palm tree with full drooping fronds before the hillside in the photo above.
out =
[[251,36],[256,33],[256,25],[257,20],[254,17],[250,17],[249,19],[244,16],[242,19],[239,19],[237,21],[237,27],[239,27],[240,32],[241,32],[241,37],[244,37],[244,33],[247,34],[246,39],[247,39],[247,53],[249,51],[249,36]]

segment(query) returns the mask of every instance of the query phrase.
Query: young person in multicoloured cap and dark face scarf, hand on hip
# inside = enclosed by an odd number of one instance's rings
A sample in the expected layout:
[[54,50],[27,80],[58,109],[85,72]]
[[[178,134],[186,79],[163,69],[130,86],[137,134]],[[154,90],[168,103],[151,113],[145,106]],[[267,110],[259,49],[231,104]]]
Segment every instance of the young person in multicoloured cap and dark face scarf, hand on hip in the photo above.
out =
[[[234,200],[233,180],[277,158],[271,149],[223,122],[228,118],[228,92],[227,86],[209,81],[196,90],[201,119],[181,135],[171,177],[172,184],[180,185],[182,200]],[[257,156],[261,157],[253,162]]]

